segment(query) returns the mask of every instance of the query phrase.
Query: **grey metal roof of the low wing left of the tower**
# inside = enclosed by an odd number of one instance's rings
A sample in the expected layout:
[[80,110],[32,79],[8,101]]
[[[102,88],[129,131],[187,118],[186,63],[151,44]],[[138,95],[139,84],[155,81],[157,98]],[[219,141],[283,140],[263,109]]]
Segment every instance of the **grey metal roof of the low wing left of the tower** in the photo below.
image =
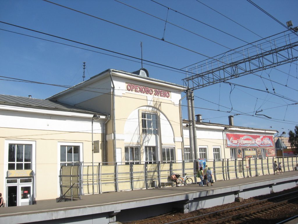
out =
[[77,106],[48,100],[48,99],[35,99],[31,97],[22,97],[22,96],[10,96],[10,95],[1,95],[0,94],[0,105],[11,105],[19,107],[31,107],[31,108],[40,108],[47,110],[58,110],[58,111],[71,111],[77,113],[102,113],[100,111],[94,111],[88,108],[80,108]]

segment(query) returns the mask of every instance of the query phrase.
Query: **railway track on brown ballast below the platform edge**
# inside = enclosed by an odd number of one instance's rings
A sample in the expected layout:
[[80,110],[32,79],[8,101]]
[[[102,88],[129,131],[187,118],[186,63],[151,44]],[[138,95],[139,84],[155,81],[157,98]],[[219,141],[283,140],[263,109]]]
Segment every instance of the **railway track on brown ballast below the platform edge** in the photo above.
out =
[[266,215],[266,213],[276,211],[279,208],[285,209],[287,206],[293,205],[291,202],[294,201],[298,201],[298,191],[165,224],[231,224],[235,223],[235,221],[237,221],[237,223],[243,223],[248,222],[249,220],[254,219],[256,217],[261,217],[264,214]]

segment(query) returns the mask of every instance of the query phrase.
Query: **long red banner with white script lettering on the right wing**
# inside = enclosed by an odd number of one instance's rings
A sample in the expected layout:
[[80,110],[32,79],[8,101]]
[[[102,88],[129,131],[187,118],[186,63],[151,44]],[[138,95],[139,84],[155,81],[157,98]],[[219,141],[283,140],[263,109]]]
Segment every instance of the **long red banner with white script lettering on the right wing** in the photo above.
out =
[[274,148],[273,136],[226,134],[226,147]]

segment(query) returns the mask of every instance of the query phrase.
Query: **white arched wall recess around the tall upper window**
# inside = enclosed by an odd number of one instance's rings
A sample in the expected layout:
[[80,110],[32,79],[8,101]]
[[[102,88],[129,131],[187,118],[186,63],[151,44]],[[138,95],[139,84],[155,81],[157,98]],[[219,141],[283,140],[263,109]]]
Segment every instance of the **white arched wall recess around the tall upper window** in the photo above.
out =
[[[124,141],[125,142],[140,142],[139,130],[139,110],[144,111],[152,111],[152,112],[159,112],[159,121],[160,121],[160,136],[162,140],[162,144],[173,144],[174,143],[174,132],[173,128],[170,125],[169,120],[167,117],[158,109],[154,107],[139,107],[136,108],[131,114],[128,116],[125,125],[124,125]],[[145,138],[150,138],[151,135],[145,136]],[[153,142],[157,145],[156,139],[157,138],[150,138],[148,140],[148,145],[153,146]]]

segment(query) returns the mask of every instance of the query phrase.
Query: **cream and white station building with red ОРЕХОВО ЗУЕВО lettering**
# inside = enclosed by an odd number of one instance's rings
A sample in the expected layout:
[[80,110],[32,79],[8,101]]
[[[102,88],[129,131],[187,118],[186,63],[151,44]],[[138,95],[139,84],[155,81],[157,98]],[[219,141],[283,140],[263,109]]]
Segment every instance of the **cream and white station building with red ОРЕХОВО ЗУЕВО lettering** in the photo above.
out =
[[[115,173],[129,179],[132,169],[152,169],[154,177],[156,167],[165,176],[174,170],[169,164],[194,167],[198,158],[191,156],[188,121],[181,114],[184,90],[150,78],[146,69],[108,69],[47,99],[0,95],[5,206],[59,197],[61,165],[82,165],[81,194],[149,185],[109,181]],[[277,131],[235,126],[231,116],[223,125],[201,122],[198,115],[196,131],[199,157],[207,161],[275,156]]]

